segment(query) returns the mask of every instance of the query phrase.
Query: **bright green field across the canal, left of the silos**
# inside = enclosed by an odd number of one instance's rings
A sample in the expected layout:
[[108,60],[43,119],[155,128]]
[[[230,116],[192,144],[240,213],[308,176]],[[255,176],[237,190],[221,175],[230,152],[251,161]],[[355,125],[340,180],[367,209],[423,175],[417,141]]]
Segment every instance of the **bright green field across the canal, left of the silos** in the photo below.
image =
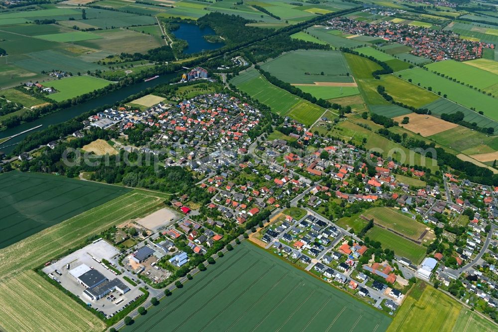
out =
[[86,75],[64,78],[48,84],[48,86],[54,87],[58,91],[48,95],[48,98],[59,102],[101,89],[111,83],[111,81],[106,81],[102,78]]

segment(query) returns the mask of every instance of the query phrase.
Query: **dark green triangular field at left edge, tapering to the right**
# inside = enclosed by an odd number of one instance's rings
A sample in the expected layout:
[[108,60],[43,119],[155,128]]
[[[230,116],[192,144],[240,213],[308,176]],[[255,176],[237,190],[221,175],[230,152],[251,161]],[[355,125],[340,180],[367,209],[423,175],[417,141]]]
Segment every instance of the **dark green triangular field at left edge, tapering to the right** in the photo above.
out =
[[62,176],[8,172],[0,175],[0,248],[129,191]]

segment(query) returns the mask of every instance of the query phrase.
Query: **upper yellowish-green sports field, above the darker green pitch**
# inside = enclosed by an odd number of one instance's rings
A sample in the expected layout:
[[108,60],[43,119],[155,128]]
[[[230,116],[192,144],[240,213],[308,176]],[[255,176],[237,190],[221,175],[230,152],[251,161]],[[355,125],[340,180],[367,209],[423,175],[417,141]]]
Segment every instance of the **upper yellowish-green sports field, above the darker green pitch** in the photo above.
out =
[[418,240],[426,228],[424,224],[389,207],[373,207],[363,212],[363,215],[368,219],[373,218],[374,223],[385,228],[392,229],[393,231],[403,234],[413,240]]

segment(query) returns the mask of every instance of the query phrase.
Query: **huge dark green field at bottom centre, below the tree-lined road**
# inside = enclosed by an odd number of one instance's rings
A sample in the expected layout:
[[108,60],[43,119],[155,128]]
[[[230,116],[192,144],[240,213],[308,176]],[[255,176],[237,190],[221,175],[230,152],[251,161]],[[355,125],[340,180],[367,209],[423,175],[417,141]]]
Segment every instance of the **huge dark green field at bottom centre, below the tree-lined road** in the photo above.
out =
[[[234,310],[237,308],[237,310]],[[385,331],[390,319],[244,242],[127,331]]]

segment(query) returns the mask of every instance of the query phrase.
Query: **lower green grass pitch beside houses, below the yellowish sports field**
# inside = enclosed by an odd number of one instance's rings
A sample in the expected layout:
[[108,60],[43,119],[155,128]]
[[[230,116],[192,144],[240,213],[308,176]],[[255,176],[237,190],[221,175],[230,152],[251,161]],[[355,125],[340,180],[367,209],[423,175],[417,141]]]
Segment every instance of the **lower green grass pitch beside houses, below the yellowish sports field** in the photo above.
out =
[[380,242],[382,248],[393,250],[396,255],[406,257],[415,264],[419,264],[425,256],[425,247],[402,238],[387,229],[373,226],[365,236]]

